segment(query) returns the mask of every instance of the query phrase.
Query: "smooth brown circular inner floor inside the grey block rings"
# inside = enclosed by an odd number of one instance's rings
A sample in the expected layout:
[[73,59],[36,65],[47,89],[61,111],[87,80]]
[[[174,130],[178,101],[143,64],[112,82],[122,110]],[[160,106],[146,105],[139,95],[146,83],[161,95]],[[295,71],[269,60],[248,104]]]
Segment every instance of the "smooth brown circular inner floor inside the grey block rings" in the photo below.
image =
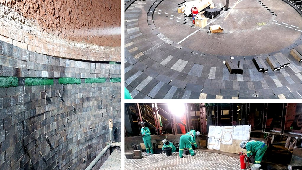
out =
[[[222,11],[216,18],[207,20],[209,25],[185,39],[199,27],[194,27],[192,19],[185,14],[178,14],[177,7],[181,2],[183,0],[162,1],[154,11],[154,24],[170,40],[192,50],[250,56],[288,47],[301,35],[302,18],[287,3],[241,0],[233,10]],[[213,2],[217,8],[225,5],[225,1]],[[230,8],[235,2],[230,1]],[[187,23],[183,24],[184,20]],[[223,33],[210,34],[209,26],[217,24],[223,27]]]

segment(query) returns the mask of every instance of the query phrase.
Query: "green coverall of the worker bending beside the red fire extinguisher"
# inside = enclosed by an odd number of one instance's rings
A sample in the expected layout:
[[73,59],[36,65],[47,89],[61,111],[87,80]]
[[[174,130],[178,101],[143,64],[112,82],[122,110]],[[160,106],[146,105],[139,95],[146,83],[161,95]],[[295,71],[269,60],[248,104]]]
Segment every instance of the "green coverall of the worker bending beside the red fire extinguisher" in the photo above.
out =
[[267,145],[261,141],[249,141],[246,143],[247,156],[255,155],[255,164],[260,164],[262,157],[267,149]]

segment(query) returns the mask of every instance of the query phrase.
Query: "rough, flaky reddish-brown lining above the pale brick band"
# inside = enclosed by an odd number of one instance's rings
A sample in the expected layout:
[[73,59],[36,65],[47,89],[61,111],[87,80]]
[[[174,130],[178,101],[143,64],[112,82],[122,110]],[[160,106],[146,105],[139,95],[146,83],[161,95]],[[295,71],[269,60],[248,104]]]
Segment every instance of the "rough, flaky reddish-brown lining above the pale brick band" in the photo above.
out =
[[[34,19],[47,33],[67,40],[100,46],[120,46],[120,1],[37,0],[5,1],[28,19]],[[115,33],[112,35],[112,32]]]

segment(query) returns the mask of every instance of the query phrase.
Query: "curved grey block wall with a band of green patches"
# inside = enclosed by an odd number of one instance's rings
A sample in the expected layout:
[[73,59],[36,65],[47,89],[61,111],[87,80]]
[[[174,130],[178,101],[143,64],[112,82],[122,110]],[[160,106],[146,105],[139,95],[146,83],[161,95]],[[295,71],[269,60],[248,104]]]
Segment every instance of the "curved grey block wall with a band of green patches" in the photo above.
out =
[[84,169],[109,141],[108,119],[120,141],[120,64],[0,41],[0,169]]

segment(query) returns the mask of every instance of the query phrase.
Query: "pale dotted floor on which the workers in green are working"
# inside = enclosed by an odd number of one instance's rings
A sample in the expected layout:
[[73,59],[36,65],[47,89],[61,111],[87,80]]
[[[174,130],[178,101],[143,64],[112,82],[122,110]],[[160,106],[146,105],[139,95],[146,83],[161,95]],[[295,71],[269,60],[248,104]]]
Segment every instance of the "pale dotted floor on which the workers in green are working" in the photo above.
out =
[[141,170],[183,170],[183,169],[200,169],[200,170],[240,170],[240,161],[237,158],[212,152],[196,151],[195,156],[187,155],[180,159],[178,152],[172,153],[171,156],[165,154],[154,154],[146,156],[143,152],[142,159],[127,159],[125,157],[125,169]]

